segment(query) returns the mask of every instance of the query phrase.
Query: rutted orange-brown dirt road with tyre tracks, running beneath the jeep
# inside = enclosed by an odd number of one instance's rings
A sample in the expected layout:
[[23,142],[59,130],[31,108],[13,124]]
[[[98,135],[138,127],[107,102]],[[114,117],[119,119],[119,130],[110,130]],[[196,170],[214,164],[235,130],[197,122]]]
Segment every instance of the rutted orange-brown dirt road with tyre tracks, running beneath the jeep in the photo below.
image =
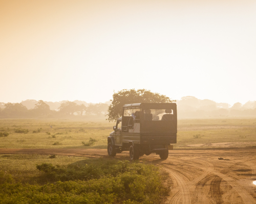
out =
[[[106,149],[0,149],[0,154],[8,153],[110,159]],[[129,152],[116,158],[129,159]],[[256,148],[170,150],[167,160],[152,154],[140,161],[169,172],[173,186],[166,203],[256,203]]]

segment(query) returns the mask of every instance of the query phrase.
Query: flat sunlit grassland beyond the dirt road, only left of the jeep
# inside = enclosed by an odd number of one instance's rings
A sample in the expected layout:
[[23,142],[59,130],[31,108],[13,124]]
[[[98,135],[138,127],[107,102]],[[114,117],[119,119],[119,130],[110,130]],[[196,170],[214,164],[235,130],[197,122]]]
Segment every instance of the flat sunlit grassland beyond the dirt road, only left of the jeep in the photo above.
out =
[[[0,138],[0,148],[106,148],[113,125],[104,120],[1,119],[0,131],[9,136]],[[15,133],[17,129],[29,132]],[[38,129],[39,133],[33,133]],[[90,138],[97,141],[85,147],[82,142],[88,143]]]

